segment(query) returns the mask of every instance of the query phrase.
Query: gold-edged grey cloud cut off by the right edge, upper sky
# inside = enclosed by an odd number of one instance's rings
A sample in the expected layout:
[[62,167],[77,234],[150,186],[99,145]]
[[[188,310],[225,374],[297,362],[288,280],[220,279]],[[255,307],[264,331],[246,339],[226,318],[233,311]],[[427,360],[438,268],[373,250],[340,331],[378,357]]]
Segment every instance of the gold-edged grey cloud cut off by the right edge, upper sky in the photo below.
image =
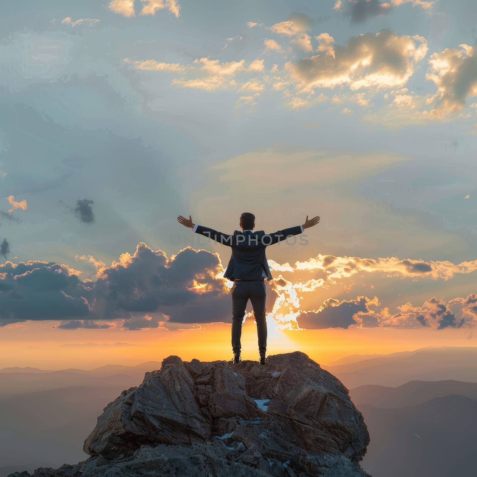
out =
[[477,57],[475,49],[461,44],[460,50],[446,48],[429,58],[426,79],[437,88],[427,100],[430,114],[444,116],[464,109],[467,97],[477,96]]

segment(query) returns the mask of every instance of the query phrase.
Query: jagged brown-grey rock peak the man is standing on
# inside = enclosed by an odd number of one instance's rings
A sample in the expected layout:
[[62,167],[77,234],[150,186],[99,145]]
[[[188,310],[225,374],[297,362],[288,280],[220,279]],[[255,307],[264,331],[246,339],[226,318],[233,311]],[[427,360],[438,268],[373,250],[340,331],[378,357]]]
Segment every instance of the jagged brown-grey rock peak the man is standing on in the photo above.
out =
[[33,476],[363,477],[368,443],[347,389],[303,353],[266,366],[170,356],[104,409],[92,457]]

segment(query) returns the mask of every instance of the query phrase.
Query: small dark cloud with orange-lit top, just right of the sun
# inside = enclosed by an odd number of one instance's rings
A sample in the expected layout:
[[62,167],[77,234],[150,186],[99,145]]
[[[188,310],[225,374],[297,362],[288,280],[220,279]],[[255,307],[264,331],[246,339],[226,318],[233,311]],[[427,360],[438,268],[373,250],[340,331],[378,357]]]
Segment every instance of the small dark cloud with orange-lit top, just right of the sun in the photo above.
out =
[[356,300],[339,301],[334,298],[325,300],[319,310],[303,311],[297,318],[300,328],[320,330],[323,328],[349,328],[356,325],[354,316],[358,312],[368,313],[371,306],[378,306],[376,297],[357,297]]

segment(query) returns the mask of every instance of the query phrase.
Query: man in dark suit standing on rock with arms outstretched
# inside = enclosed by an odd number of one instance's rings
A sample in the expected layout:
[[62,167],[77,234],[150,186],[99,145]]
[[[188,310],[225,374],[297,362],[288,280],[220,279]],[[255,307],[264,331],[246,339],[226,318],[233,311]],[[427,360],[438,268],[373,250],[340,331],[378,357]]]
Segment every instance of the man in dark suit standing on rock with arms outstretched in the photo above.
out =
[[272,234],[266,234],[263,230],[256,230],[255,216],[250,212],[244,212],[240,216],[240,228],[232,235],[218,232],[213,228],[203,227],[192,223],[192,218],[177,217],[177,221],[193,232],[214,239],[216,242],[227,245],[232,249],[232,256],[228,262],[224,277],[234,282],[232,294],[232,350],[234,363],[240,361],[240,336],[242,334],[242,321],[245,315],[245,307],[250,300],[253,314],[257,323],[259,338],[259,361],[266,364],[267,350],[267,322],[265,320],[266,288],[264,280],[271,280],[272,276],[268,266],[265,249],[269,245],[279,243],[288,237],[303,233],[305,228],[316,225],[320,218],[314,217],[308,220],[306,217],[303,225],[278,230]]

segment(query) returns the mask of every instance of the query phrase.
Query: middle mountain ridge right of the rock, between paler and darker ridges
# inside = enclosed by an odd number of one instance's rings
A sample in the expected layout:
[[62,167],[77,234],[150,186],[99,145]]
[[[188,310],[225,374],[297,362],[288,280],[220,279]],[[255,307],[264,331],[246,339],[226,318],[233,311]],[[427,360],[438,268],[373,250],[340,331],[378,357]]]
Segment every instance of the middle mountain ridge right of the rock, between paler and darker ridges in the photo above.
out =
[[354,404],[369,404],[383,408],[415,406],[449,394],[459,394],[477,401],[477,383],[463,383],[452,379],[410,381],[398,387],[365,384],[350,390]]

